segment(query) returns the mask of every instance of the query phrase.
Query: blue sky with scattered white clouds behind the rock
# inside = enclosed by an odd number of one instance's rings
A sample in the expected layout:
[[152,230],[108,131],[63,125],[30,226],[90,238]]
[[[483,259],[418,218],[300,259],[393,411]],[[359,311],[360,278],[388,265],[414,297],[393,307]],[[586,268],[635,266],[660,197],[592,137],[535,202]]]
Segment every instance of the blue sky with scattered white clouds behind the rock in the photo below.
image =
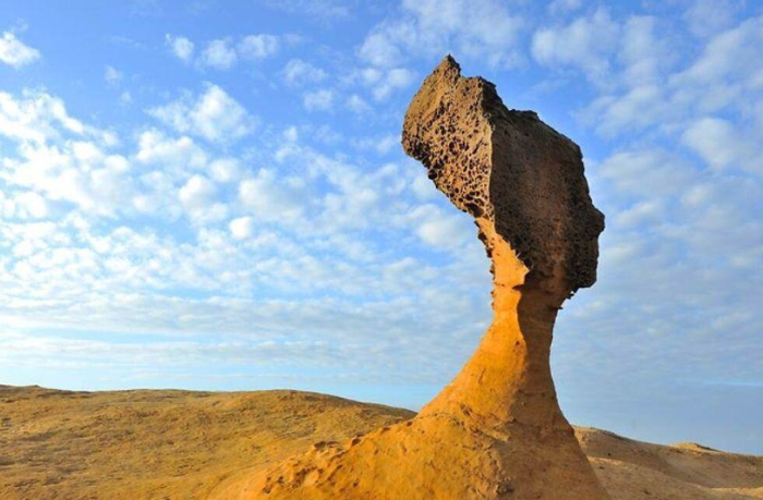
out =
[[426,402],[491,320],[399,146],[451,52],[581,145],[607,216],[569,419],[763,453],[760,2],[1,3],[0,383]]

